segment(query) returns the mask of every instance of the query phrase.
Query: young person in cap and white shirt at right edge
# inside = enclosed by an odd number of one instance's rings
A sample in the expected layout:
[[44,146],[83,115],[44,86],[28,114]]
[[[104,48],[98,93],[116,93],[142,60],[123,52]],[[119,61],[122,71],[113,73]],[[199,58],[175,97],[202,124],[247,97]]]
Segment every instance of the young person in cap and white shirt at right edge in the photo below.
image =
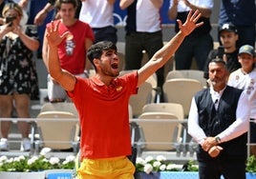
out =
[[[252,46],[244,45],[238,53],[239,63],[242,68],[232,72],[227,85],[244,89],[250,103],[250,144],[256,145],[256,69],[255,52]],[[250,146],[250,154],[256,156],[256,146]]]

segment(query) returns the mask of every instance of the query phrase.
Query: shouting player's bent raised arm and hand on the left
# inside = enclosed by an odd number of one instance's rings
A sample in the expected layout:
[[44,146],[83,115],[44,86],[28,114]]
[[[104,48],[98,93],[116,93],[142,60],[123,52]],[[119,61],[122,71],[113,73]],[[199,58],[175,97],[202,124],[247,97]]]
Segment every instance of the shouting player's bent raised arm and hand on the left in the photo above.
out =
[[58,34],[59,22],[54,25],[53,22],[46,30],[46,38],[48,41],[48,58],[46,61],[47,69],[55,81],[57,81],[63,89],[72,91],[75,88],[75,76],[66,70],[62,70],[59,64],[57,46],[66,38],[69,32]]

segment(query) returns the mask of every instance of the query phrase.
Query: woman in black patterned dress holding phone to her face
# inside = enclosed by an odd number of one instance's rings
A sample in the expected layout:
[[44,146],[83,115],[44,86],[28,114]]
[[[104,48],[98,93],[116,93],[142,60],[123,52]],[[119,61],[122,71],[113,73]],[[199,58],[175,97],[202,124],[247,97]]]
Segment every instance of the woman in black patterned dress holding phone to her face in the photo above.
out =
[[[22,27],[23,10],[15,3],[5,5],[2,15],[6,24],[0,28],[0,117],[10,118],[14,105],[19,118],[30,117],[30,102],[37,76],[32,63],[32,51],[39,47],[37,31],[33,27]],[[8,19],[11,19],[10,21]],[[37,86],[38,88],[38,86]],[[38,91],[38,89],[37,89]],[[1,122],[0,149],[8,150],[8,134],[11,121]],[[30,126],[18,121],[22,135],[21,150],[30,150]]]

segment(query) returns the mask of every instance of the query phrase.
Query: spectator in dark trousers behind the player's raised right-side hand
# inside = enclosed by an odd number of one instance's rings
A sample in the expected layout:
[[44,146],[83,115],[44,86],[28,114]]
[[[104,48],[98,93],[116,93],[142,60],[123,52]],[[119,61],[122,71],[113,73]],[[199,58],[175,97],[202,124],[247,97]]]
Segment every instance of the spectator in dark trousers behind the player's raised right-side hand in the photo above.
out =
[[[176,70],[189,70],[193,57],[197,61],[198,69],[203,70],[207,55],[213,49],[213,39],[210,35],[213,5],[213,0],[170,0],[168,15],[171,20],[181,19],[181,22],[184,22],[189,10],[200,10],[200,22],[203,22],[203,26],[189,34],[175,52]],[[175,30],[179,31],[177,23]]]

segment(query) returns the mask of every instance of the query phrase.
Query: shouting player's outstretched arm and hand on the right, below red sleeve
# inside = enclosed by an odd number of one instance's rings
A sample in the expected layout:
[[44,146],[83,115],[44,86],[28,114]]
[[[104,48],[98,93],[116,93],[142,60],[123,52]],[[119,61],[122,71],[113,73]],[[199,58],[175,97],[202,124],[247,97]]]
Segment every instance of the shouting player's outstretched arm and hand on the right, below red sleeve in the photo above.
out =
[[201,13],[199,13],[199,10],[196,10],[193,14],[192,11],[188,13],[184,24],[181,23],[181,20],[178,20],[180,31],[165,46],[158,50],[143,67],[138,70],[138,87],[171,58],[175,51],[180,47],[181,42],[186,35],[191,33],[197,27],[203,25],[203,22],[196,24],[200,17]]

